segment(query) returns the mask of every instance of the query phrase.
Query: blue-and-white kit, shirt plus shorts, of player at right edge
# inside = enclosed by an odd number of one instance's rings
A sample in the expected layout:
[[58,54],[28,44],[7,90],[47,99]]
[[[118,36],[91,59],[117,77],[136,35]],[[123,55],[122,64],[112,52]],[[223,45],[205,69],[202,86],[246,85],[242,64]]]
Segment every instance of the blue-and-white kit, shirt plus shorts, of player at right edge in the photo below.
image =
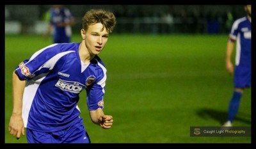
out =
[[236,88],[251,86],[251,24],[247,17],[237,19],[230,33],[230,40],[236,40],[236,68],[234,72],[234,87]]

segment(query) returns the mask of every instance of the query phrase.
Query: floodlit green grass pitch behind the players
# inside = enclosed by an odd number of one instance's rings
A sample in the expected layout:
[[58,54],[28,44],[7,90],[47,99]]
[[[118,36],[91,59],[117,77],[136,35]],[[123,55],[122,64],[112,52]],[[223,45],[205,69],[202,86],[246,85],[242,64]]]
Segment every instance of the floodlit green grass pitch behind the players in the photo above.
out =
[[[74,35],[73,42],[81,42]],[[222,125],[233,92],[225,71],[227,35],[111,35],[100,58],[108,69],[104,112],[113,127],[90,121],[86,92],[79,108],[92,143],[251,143],[251,137],[190,137],[190,127]],[[51,43],[42,36],[5,36],[5,143],[27,143],[8,132],[12,72]],[[235,53],[235,52],[234,52]],[[251,89],[234,126],[251,126]]]

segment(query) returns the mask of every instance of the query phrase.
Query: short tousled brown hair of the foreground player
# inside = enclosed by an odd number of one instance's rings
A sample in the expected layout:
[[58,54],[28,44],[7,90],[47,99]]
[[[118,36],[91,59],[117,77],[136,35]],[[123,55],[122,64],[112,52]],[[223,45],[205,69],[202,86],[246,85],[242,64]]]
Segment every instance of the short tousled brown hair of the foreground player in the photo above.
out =
[[87,31],[88,26],[101,23],[103,24],[102,31],[104,27],[108,33],[111,33],[116,25],[116,17],[112,12],[108,12],[107,10],[102,9],[92,9],[84,14],[83,17],[83,29]]

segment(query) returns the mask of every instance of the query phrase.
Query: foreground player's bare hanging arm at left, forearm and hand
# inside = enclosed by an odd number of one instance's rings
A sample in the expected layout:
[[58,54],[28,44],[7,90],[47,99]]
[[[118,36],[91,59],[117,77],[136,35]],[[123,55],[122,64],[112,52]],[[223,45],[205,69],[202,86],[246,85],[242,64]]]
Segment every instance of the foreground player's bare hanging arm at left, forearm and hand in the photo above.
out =
[[20,137],[22,133],[25,135],[24,131],[24,123],[22,120],[22,96],[24,92],[24,87],[26,85],[26,81],[22,81],[19,79],[18,75],[13,72],[13,111],[12,116],[10,118],[10,123],[8,130],[10,134]]

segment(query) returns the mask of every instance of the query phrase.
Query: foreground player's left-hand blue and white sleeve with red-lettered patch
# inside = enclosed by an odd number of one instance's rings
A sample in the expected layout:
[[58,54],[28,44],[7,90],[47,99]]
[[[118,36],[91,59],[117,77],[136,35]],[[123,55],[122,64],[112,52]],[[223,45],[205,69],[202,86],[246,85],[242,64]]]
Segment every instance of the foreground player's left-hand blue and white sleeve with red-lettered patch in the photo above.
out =
[[15,70],[20,79],[31,79],[36,75],[45,73],[54,66],[54,56],[56,52],[52,52],[56,44],[49,45],[40,51],[35,52],[31,58],[22,61]]

